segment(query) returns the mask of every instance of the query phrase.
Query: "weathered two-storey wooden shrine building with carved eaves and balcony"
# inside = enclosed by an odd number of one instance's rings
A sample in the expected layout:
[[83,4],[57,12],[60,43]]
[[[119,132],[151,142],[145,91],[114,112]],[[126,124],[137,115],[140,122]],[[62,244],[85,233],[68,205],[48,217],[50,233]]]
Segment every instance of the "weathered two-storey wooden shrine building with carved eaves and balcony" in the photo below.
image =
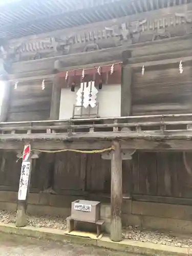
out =
[[30,144],[29,212],[99,198],[114,241],[121,223],[190,232],[192,1],[0,6],[0,208]]

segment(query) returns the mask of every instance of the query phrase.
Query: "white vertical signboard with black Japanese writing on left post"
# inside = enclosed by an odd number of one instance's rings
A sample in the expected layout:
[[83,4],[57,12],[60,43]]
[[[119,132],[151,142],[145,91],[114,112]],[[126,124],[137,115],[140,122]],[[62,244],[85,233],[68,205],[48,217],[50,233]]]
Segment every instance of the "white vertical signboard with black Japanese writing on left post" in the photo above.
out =
[[29,181],[30,162],[22,162],[22,169],[20,173],[18,200],[26,200],[27,186]]

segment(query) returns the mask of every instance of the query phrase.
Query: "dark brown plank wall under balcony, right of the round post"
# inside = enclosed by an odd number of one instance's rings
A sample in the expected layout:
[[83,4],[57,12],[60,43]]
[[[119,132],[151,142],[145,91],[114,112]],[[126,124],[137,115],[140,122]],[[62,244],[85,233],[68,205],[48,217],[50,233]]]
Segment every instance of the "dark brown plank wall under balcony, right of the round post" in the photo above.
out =
[[191,153],[138,152],[132,162],[133,194],[192,197]]

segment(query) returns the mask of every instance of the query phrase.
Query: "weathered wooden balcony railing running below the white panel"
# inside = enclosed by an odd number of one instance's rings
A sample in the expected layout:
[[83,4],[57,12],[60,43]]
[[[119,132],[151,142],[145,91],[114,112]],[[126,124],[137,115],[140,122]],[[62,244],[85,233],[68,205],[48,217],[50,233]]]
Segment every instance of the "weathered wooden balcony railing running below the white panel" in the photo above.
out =
[[0,123],[0,134],[69,134],[192,130],[192,114],[146,115]]

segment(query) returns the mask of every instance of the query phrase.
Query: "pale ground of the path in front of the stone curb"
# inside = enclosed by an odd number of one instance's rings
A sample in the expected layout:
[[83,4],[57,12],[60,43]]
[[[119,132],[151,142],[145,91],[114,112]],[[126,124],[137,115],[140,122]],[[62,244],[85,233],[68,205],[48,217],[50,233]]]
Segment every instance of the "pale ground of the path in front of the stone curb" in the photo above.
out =
[[44,240],[0,233],[0,256],[138,256],[104,248]]

